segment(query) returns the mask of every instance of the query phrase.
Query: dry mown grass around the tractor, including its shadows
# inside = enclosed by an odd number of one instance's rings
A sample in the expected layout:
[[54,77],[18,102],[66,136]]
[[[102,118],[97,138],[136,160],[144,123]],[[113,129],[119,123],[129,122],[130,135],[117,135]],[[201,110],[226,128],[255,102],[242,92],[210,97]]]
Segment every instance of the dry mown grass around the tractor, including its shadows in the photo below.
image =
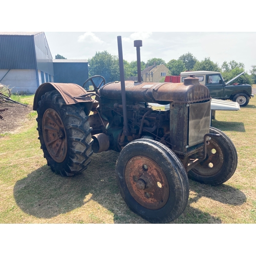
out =
[[[32,104],[33,96],[20,101]],[[21,132],[0,138],[0,223],[148,223],[119,194],[118,153],[94,154],[83,174],[62,178],[40,150],[36,113],[28,118]],[[217,111],[212,126],[233,141],[238,168],[219,186],[190,180],[187,207],[173,223],[256,223],[255,124],[256,98],[240,111]]]

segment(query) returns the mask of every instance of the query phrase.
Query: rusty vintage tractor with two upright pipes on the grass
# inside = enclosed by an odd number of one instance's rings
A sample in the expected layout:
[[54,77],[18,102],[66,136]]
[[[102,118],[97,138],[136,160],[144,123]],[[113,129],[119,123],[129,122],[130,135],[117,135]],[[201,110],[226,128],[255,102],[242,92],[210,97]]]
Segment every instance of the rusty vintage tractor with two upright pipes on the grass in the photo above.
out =
[[[209,127],[210,94],[199,79],[184,83],[124,81],[122,43],[117,37],[120,82],[47,82],[34,98],[44,157],[53,172],[73,176],[88,167],[93,153],[120,152],[116,178],[126,204],[152,223],[168,223],[184,211],[188,177],[210,185],[227,181],[237,168],[237,152],[220,130]],[[100,79],[99,83],[95,81]],[[149,103],[170,104],[168,111]]]

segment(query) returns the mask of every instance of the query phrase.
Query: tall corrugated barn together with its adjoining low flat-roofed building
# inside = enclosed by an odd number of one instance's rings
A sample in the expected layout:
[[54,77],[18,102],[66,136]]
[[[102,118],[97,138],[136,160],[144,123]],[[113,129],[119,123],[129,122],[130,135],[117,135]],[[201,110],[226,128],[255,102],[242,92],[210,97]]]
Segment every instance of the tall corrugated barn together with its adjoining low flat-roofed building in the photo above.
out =
[[33,94],[41,83],[88,79],[88,61],[53,59],[44,32],[0,32],[0,83],[11,93]]

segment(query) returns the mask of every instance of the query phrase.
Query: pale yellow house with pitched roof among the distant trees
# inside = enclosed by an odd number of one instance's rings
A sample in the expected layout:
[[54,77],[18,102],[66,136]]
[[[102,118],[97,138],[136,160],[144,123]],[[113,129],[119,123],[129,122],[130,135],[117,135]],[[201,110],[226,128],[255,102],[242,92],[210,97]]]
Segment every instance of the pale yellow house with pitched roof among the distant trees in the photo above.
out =
[[145,68],[141,72],[143,82],[160,82],[160,79],[164,78],[169,72],[169,69],[165,65],[158,65],[154,63],[153,66]]

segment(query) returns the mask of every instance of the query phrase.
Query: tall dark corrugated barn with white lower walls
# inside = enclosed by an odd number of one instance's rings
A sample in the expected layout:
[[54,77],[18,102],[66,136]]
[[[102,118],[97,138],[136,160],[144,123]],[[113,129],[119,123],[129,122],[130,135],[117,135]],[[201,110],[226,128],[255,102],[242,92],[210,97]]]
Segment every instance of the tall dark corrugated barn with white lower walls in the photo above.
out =
[[0,83],[11,92],[35,93],[54,80],[52,55],[44,32],[0,32]]

